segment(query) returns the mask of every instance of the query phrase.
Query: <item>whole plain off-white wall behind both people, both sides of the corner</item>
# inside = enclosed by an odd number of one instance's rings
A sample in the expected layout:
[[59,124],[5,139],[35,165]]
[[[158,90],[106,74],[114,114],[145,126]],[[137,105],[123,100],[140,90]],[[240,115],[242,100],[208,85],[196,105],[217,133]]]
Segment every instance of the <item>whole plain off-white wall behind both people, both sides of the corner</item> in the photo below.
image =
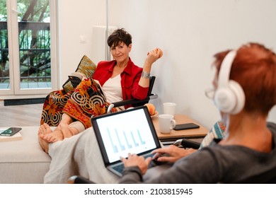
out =
[[[62,81],[83,54],[91,55],[92,26],[105,25],[105,1],[77,2],[61,1]],[[159,98],[152,101],[157,110],[162,111],[163,102],[176,102],[178,113],[208,128],[219,119],[204,94],[212,87],[213,54],[246,42],[261,42],[276,51],[274,0],[109,0],[109,5],[109,24],[132,34],[134,63],[142,66],[154,47],[163,50],[151,72],[157,76],[154,92]],[[87,44],[80,44],[79,35],[88,35]],[[276,107],[270,120],[276,120]]]

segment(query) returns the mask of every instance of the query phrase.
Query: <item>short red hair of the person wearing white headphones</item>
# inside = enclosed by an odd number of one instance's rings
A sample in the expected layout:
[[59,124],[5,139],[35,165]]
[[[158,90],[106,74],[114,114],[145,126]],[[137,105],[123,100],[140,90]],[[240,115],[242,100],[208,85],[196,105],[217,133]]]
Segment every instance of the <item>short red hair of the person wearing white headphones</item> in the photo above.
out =
[[[215,54],[217,75],[229,50]],[[230,79],[238,82],[246,95],[246,112],[268,112],[276,104],[276,54],[264,45],[248,43],[237,50]]]

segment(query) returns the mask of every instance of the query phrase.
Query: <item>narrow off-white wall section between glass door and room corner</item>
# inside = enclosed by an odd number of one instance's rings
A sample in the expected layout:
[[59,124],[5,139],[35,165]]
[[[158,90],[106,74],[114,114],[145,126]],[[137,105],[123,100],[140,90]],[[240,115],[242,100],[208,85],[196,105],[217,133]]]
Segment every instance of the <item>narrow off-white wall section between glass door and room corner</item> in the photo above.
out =
[[105,21],[103,0],[59,0],[60,87],[84,54],[91,57],[93,25],[105,25]]

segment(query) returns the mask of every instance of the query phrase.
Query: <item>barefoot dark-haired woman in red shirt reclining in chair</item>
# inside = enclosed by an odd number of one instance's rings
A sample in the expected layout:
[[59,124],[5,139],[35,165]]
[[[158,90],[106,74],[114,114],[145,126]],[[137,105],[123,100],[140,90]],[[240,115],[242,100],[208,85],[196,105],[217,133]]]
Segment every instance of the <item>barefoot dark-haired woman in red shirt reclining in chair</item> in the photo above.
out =
[[[156,48],[148,52],[143,68],[130,59],[132,36],[124,28],[108,37],[113,60],[99,62],[92,77],[83,78],[63,107],[61,121],[54,131],[49,124],[40,126],[40,145],[48,152],[48,144],[69,138],[91,127],[91,116],[105,114],[110,103],[121,100],[144,100],[149,91],[151,66],[163,52]],[[101,88],[100,88],[101,86]],[[131,105],[113,109],[125,110]]]

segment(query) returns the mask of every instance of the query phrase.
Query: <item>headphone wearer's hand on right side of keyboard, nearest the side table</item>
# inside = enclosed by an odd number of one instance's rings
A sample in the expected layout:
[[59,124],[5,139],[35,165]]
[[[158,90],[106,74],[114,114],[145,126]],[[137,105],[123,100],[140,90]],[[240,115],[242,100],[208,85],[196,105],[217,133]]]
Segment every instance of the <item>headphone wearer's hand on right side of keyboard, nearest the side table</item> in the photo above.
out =
[[[163,148],[157,148],[151,153],[156,153],[153,159],[157,158],[157,161],[160,161],[160,162],[167,161],[167,162],[175,163],[180,158],[189,156],[191,153],[194,153],[195,151],[197,150],[193,148],[184,149],[184,148],[179,148],[178,146],[171,145]],[[165,155],[163,156],[163,154]]]

